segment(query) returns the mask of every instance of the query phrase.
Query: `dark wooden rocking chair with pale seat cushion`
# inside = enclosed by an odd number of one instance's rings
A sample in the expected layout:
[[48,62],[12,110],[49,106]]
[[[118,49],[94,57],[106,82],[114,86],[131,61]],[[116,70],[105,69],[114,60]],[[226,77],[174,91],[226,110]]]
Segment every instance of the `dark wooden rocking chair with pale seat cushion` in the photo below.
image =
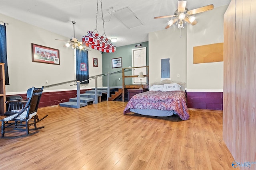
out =
[[[11,112],[14,114],[10,114],[8,117],[0,120],[2,121],[1,127],[1,138],[16,138],[16,137],[23,137],[27,135],[31,135],[34,133],[38,133],[39,131],[34,131],[30,133],[30,130],[38,130],[43,127],[36,127],[36,123],[38,122],[38,115],[37,109],[40,102],[40,98],[42,96],[44,86],[42,88],[32,88],[29,92],[28,90],[28,101],[23,106],[21,110],[12,110]],[[9,111],[10,113],[10,111]],[[34,119],[34,120],[30,120]],[[39,120],[40,121],[40,120]],[[31,123],[32,122],[32,123]],[[29,129],[31,125],[34,125],[34,129]],[[6,128],[12,128],[11,131],[5,131]],[[20,133],[24,133],[24,135],[20,135]],[[4,136],[5,133],[14,133],[15,136]],[[18,134],[18,135],[17,135]]]

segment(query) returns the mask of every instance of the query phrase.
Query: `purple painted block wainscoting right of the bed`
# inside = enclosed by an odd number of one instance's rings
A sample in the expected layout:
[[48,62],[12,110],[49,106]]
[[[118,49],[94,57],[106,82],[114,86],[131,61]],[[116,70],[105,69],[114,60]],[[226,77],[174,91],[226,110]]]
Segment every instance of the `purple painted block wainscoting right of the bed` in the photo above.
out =
[[188,108],[223,110],[223,92],[187,92]]

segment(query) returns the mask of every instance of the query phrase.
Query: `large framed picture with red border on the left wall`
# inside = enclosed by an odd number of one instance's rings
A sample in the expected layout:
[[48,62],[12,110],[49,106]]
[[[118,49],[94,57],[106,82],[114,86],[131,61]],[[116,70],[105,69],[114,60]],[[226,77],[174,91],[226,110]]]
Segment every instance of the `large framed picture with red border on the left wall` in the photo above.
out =
[[32,62],[60,65],[60,50],[31,43]]

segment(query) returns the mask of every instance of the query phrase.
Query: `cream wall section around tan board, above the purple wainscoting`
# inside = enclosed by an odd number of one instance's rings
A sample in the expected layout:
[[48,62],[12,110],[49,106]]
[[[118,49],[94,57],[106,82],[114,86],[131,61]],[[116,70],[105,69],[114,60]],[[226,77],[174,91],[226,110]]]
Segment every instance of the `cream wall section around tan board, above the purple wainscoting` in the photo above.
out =
[[198,23],[188,25],[187,91],[223,92],[223,61],[193,64],[193,47],[223,43],[223,16],[228,6],[196,14]]

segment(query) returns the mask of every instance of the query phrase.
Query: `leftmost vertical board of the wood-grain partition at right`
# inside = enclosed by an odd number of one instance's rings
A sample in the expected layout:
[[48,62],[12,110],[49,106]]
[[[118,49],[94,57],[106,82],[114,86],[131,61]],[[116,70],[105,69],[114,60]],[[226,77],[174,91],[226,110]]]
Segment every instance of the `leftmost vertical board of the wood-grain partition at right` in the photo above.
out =
[[[223,114],[223,119],[224,119],[224,139],[227,142],[228,148],[231,148],[230,150],[233,150],[235,148],[235,143],[234,141],[236,139],[236,133],[233,133],[233,128],[234,125],[236,124],[236,115],[235,115],[235,89],[234,89],[234,83],[235,83],[235,56],[234,54],[234,48],[232,48],[233,43],[235,41],[235,8],[236,4],[235,2],[231,2],[228,10],[226,12],[226,30],[224,30],[224,45],[227,49],[224,49],[227,51],[224,56],[224,93],[223,93],[223,98],[224,98],[224,106],[223,106],[223,111],[228,112],[230,114],[226,115]],[[225,34],[226,33],[226,34]],[[232,133],[231,133],[232,132]]]

